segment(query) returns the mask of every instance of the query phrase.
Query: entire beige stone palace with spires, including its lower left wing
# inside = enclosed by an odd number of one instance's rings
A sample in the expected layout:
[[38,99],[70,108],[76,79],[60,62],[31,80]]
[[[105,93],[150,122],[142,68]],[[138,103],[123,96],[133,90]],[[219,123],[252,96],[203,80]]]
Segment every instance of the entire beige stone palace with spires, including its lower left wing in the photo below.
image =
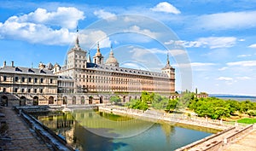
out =
[[57,63],[54,66],[40,63],[38,69],[3,65],[1,100],[19,100],[20,105],[90,104],[108,102],[110,96],[129,102],[143,90],[164,96],[175,92],[175,69],[168,57],[162,73],[119,67],[112,48],[104,62],[99,44],[92,61],[90,58],[90,53],[80,47],[78,36],[62,67]]

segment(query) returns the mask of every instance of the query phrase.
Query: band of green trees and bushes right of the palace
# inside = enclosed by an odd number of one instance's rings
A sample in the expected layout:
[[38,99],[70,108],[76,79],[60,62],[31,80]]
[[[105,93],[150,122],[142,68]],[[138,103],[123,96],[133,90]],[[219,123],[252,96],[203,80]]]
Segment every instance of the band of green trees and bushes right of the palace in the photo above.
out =
[[250,116],[256,116],[256,102],[237,102],[234,100],[222,100],[216,97],[197,98],[195,93],[188,90],[183,92],[180,98],[170,100],[159,94],[143,91],[140,99],[131,100],[126,104],[127,107],[147,110],[148,104],[155,109],[164,109],[173,112],[178,107],[189,107],[198,116],[209,117],[211,119],[224,119],[234,115],[237,112],[247,113]]

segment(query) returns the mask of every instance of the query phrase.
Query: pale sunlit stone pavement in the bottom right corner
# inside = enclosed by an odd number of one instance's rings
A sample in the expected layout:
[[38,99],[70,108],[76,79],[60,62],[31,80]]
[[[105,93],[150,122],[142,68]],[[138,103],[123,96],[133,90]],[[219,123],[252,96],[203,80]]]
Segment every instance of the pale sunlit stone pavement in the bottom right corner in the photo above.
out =
[[256,151],[256,130],[231,143],[224,151]]

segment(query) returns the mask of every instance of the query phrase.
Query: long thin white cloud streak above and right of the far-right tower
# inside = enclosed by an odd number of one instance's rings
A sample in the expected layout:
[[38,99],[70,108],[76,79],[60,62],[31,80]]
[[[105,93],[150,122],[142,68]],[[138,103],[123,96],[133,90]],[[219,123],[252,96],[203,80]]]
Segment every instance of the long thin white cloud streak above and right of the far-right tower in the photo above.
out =
[[186,48],[199,48],[209,47],[210,49],[229,48],[236,44],[236,38],[234,37],[209,37],[198,38],[196,41],[173,41],[170,40],[164,44],[174,44],[175,46],[183,45]]

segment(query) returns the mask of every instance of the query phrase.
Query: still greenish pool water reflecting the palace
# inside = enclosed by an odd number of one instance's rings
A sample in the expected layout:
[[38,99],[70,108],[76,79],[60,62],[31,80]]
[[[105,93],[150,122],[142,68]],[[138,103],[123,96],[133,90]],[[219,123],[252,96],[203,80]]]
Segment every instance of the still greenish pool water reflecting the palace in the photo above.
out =
[[34,116],[81,151],[170,151],[217,132],[95,110]]

